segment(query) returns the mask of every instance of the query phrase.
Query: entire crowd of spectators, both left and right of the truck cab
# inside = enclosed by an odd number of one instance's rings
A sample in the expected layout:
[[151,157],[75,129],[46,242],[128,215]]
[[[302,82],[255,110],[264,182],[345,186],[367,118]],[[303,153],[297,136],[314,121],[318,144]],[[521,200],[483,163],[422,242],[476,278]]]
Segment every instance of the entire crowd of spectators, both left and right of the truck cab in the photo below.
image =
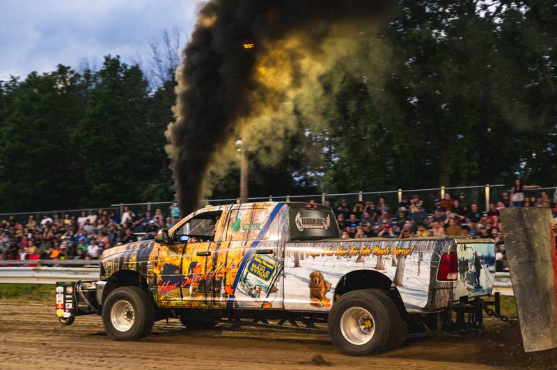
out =
[[[538,198],[517,195],[524,188],[517,181],[510,192],[501,193],[498,201],[480,211],[478,204],[469,202],[464,193],[445,193],[435,199],[434,207],[426,209],[418,195],[388,204],[386,198],[377,202],[366,200],[349,204],[341,200],[332,204],[343,238],[382,237],[402,239],[413,236],[479,236],[496,243],[496,259],[505,259],[503,232],[499,210],[505,207],[554,208],[557,217],[557,191],[553,198],[542,191]],[[137,211],[124,207],[122,214],[99,209],[81,215],[45,214],[41,220],[33,215],[26,222],[14,216],[0,220],[1,259],[98,259],[103,250],[139,239],[152,239],[157,230],[171,227],[178,221],[180,210],[174,202],[166,216],[162,209]]]

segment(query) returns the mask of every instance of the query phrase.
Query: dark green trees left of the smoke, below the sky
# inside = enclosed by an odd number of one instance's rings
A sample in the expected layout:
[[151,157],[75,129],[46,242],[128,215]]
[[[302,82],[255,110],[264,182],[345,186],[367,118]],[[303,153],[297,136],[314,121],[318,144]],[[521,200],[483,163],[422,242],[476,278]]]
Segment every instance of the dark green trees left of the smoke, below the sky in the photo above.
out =
[[164,131],[175,97],[151,93],[136,65],[107,56],[97,72],[59,65],[0,87],[0,209],[172,198]]

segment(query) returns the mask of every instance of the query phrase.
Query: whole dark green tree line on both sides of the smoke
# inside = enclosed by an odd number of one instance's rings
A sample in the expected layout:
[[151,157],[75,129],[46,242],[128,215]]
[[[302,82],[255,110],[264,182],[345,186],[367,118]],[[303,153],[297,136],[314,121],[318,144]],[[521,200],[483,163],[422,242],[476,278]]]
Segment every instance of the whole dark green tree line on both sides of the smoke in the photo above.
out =
[[[329,129],[299,122],[308,129],[280,163],[251,158],[251,196],[557,184],[552,1],[401,1],[378,35],[391,55],[381,88],[350,72],[357,58],[338,61],[320,77]],[[365,35],[358,45],[353,56],[373,49]],[[153,52],[156,73],[106,56],[98,70],[0,82],[1,211],[173,199],[164,131],[177,62]],[[238,179],[232,168],[214,197],[235,198]]]

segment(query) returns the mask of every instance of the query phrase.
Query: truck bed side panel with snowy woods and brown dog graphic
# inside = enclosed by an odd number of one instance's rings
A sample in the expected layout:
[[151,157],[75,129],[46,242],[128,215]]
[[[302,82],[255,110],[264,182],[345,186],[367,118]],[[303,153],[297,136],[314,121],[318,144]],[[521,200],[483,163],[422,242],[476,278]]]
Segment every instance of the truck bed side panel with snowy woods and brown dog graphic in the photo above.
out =
[[328,311],[343,276],[370,270],[393,282],[407,310],[421,311],[427,305],[430,278],[437,274],[432,257],[453,245],[452,239],[286,243],[285,308]]

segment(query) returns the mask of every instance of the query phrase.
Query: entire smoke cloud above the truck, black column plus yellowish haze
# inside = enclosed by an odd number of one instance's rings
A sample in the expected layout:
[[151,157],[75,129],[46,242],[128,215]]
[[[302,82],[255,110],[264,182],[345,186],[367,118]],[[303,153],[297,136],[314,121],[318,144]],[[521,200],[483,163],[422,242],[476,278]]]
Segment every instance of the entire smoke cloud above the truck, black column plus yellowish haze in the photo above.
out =
[[[320,129],[324,94],[319,77],[350,57],[361,34],[377,29],[388,3],[205,3],[176,72],[176,121],[166,133],[182,214],[196,209],[207,195],[210,172],[228,170],[236,138],[262,163],[272,163],[281,158],[283,139],[303,129],[300,121]],[[388,53],[378,38],[363,60]],[[381,63],[363,64],[346,67],[360,69],[372,81],[373,68]]]

